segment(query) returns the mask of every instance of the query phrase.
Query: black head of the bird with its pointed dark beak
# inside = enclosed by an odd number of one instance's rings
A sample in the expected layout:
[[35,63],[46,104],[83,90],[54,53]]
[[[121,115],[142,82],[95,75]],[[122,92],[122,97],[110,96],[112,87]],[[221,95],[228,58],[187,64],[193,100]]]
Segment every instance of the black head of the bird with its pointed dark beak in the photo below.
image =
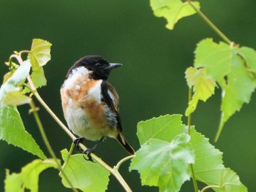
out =
[[69,69],[67,75],[72,72],[72,69],[80,66],[89,69],[91,71],[91,78],[94,80],[107,80],[111,69],[121,66],[121,64],[109,64],[108,61],[99,55],[88,55],[76,61],[71,69]]

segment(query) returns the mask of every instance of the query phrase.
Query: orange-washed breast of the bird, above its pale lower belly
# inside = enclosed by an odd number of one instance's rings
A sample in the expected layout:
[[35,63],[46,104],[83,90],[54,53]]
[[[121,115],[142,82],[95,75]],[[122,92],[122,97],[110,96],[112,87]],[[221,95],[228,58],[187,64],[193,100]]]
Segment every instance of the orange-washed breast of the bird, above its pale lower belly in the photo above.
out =
[[[74,121],[80,120],[77,117],[80,114],[69,112],[72,109],[74,111],[83,111],[84,118],[88,120],[89,128],[100,129],[108,126],[105,117],[105,103],[100,98],[101,82],[102,80],[89,79],[88,74],[79,75],[72,80],[66,80],[64,86],[61,88],[61,101],[64,117],[68,123],[69,119]],[[68,115],[71,115],[72,118],[67,117]],[[73,124],[80,125],[80,123]],[[74,132],[80,129],[74,126],[70,128]]]

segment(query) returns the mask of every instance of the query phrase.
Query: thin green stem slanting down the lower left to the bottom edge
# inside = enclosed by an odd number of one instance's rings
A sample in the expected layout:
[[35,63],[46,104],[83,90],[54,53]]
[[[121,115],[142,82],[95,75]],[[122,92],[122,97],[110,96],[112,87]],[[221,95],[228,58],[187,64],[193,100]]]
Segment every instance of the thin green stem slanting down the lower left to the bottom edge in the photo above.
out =
[[41,136],[42,136],[42,139],[43,139],[43,141],[45,142],[45,145],[46,145],[46,147],[47,147],[47,149],[48,149],[50,155],[52,156],[52,158],[54,159],[54,161],[56,161],[56,164],[57,164],[57,166],[58,166],[59,172],[62,172],[62,173],[63,173],[65,179],[67,180],[67,182],[69,183],[69,185],[72,187],[72,191],[78,192],[78,190],[72,186],[72,183],[70,182],[69,178],[67,177],[67,174],[65,174],[65,173],[63,172],[63,169],[62,169],[62,167],[61,167],[61,164],[59,164],[58,158],[56,157],[55,153],[53,152],[53,148],[50,146],[50,142],[48,141],[48,138],[46,137],[45,130],[44,130],[43,126],[42,126],[42,122],[41,122],[41,120],[40,120],[40,118],[39,118],[39,115],[38,115],[38,112],[37,112],[37,107],[35,106],[34,101],[31,100],[31,102],[30,102],[29,104],[30,104],[30,107],[31,107],[31,112],[33,112],[34,118],[35,118],[35,120],[36,120],[36,122],[37,122],[37,126],[38,126],[38,128],[39,128],[39,131],[40,131],[40,134],[41,134]]

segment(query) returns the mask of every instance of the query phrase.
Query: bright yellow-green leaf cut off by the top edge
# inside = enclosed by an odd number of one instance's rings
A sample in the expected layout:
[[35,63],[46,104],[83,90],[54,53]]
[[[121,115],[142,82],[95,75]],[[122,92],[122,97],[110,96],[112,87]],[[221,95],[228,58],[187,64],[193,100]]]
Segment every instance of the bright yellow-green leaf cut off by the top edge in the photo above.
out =
[[[193,1],[193,4],[197,9],[200,9],[200,4],[197,1]],[[154,11],[156,17],[164,17],[167,20],[166,28],[172,30],[175,24],[181,18],[196,13],[195,9],[187,2],[181,0],[151,0],[151,8]]]

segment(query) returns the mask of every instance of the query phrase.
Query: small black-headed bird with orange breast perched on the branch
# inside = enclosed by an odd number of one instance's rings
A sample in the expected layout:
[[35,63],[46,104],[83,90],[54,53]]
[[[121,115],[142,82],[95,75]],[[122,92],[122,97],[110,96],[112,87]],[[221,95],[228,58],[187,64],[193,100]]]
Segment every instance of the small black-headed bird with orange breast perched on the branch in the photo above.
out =
[[[121,119],[118,113],[118,93],[108,82],[111,70],[121,64],[110,64],[99,55],[80,58],[67,72],[61,86],[61,104],[69,129],[76,135],[78,147],[83,138],[102,141],[113,137],[130,153],[135,150],[121,134]],[[99,142],[91,149],[94,152]]]

